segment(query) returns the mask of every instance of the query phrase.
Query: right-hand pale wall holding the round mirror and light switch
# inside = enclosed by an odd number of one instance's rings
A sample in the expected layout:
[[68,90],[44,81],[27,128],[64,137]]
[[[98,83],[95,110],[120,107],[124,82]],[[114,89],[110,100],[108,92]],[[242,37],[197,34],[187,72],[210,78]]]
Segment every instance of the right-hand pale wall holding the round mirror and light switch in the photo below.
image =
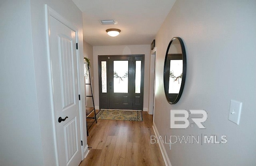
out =
[[[256,1],[177,0],[156,35],[154,123],[160,135],[227,135],[226,144],[165,145],[172,166],[256,165]],[[177,104],[164,95],[163,65],[172,37],[181,37],[187,75]],[[243,103],[240,125],[228,121],[230,100]],[[170,109],[204,109],[206,129],[170,129]],[[167,140],[168,141],[168,140]]]

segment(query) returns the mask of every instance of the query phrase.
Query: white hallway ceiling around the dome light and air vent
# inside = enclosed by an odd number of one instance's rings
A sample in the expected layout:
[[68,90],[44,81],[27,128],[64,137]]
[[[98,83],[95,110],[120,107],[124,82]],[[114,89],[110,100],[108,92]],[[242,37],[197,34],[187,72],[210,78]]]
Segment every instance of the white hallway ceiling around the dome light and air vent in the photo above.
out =
[[[176,0],[73,0],[83,12],[84,41],[92,46],[151,44]],[[116,20],[101,25],[99,20]],[[106,29],[121,32],[110,37]]]

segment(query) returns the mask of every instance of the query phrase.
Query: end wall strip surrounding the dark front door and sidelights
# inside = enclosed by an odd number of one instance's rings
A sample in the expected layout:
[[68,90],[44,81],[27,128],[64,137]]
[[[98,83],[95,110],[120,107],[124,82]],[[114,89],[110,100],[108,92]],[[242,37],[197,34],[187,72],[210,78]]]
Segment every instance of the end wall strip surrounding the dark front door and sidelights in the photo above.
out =
[[98,55],[145,55],[144,65],[144,100],[143,110],[148,111],[149,69],[150,69],[150,45],[119,45],[119,46],[94,46],[94,96],[96,109],[99,109],[99,78],[98,78]]

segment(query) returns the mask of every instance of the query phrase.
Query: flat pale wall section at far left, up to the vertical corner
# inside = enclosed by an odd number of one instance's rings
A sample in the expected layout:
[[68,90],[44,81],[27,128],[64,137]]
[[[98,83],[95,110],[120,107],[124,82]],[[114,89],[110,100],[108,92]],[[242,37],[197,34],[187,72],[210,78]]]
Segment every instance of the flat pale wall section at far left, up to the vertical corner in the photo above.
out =
[[43,166],[30,1],[1,1],[0,20],[0,165]]

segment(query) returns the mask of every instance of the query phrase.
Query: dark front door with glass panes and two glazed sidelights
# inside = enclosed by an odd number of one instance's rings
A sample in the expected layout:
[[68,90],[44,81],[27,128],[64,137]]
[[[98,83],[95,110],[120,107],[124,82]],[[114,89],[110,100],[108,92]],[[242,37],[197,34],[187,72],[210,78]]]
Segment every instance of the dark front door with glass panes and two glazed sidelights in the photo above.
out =
[[100,109],[143,109],[144,55],[99,55]]

